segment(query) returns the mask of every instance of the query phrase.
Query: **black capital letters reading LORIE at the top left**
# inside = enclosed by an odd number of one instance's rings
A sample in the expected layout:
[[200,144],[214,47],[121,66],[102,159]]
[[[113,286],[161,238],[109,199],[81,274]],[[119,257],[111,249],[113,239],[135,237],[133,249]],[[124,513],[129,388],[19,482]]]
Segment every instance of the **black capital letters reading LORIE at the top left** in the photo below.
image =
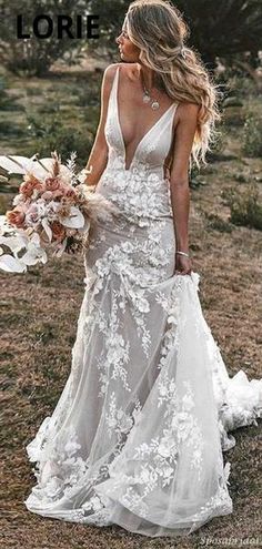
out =
[[74,20],[70,16],[54,16],[48,14],[37,16],[31,22],[30,27],[24,23],[23,16],[17,16],[17,38],[30,39],[32,35],[39,39],[47,39],[54,37],[58,39],[93,39],[99,38],[99,33],[95,32],[99,28],[99,16],[75,16]]

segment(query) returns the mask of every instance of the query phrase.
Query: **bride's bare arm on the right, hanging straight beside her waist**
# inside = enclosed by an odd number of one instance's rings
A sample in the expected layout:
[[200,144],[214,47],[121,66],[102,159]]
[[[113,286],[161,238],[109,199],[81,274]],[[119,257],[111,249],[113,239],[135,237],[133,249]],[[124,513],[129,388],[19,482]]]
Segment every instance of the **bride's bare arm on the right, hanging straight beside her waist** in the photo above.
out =
[[188,169],[196,130],[198,112],[199,105],[194,103],[181,103],[178,108],[173,160],[170,170],[170,193],[177,250],[185,253],[189,252],[188,223],[190,211]]

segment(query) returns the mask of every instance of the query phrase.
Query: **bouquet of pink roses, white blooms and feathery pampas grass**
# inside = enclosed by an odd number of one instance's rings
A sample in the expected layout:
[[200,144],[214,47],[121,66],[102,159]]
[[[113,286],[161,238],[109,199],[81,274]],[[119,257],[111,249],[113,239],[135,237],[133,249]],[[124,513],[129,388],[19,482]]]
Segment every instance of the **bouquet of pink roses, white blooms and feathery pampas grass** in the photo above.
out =
[[75,157],[71,153],[62,164],[56,151],[41,160],[37,154],[0,156],[0,167],[23,175],[14,207],[0,215],[1,270],[23,273],[29,265],[47,263],[50,255],[84,250],[92,223],[118,214],[112,202],[94,193],[94,185],[83,183],[92,167],[75,174]]

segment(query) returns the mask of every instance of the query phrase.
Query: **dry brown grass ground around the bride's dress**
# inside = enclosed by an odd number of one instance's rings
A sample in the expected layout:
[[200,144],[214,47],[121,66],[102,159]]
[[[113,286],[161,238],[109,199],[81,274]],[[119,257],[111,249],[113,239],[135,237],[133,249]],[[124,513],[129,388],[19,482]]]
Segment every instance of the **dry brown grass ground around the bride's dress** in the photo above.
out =
[[[261,160],[243,159],[238,139],[229,143],[234,160],[215,162],[203,172],[205,185],[191,191],[190,242],[193,270],[201,275],[203,314],[220,345],[229,374],[243,369],[261,377],[262,232],[232,226],[222,193],[261,171]],[[244,182],[241,185],[248,185]],[[260,186],[262,186],[260,184]],[[212,215],[224,221],[219,225]],[[221,228],[222,226],[222,228]],[[224,227],[224,228],[223,228]],[[260,426],[234,433],[230,492],[233,514],[215,518],[190,538],[150,539],[112,526],[95,528],[30,514],[23,505],[34,485],[26,445],[52,413],[70,372],[71,348],[83,297],[81,256],[51,261],[27,275],[1,274],[3,510],[1,547],[24,549],[171,549],[208,545],[258,547],[262,531],[259,476]],[[260,423],[261,425],[261,423]],[[249,542],[250,539],[250,542]],[[262,540],[261,540],[262,543]]]

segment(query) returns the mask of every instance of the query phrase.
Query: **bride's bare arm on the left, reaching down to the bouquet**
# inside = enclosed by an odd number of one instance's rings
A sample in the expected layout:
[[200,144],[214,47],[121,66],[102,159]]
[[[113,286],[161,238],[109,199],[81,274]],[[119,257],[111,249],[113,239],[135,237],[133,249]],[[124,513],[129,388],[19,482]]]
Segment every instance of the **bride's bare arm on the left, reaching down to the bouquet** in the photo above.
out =
[[112,88],[113,78],[117,68],[118,68],[118,63],[110,64],[109,67],[107,67],[103,73],[103,80],[101,85],[100,121],[99,121],[94,143],[91,153],[89,155],[88,163],[85,165],[85,170],[90,170],[92,166],[92,171],[87,175],[84,180],[85,185],[97,185],[108,163],[108,144],[104,135],[104,125],[108,115],[110,91]]

